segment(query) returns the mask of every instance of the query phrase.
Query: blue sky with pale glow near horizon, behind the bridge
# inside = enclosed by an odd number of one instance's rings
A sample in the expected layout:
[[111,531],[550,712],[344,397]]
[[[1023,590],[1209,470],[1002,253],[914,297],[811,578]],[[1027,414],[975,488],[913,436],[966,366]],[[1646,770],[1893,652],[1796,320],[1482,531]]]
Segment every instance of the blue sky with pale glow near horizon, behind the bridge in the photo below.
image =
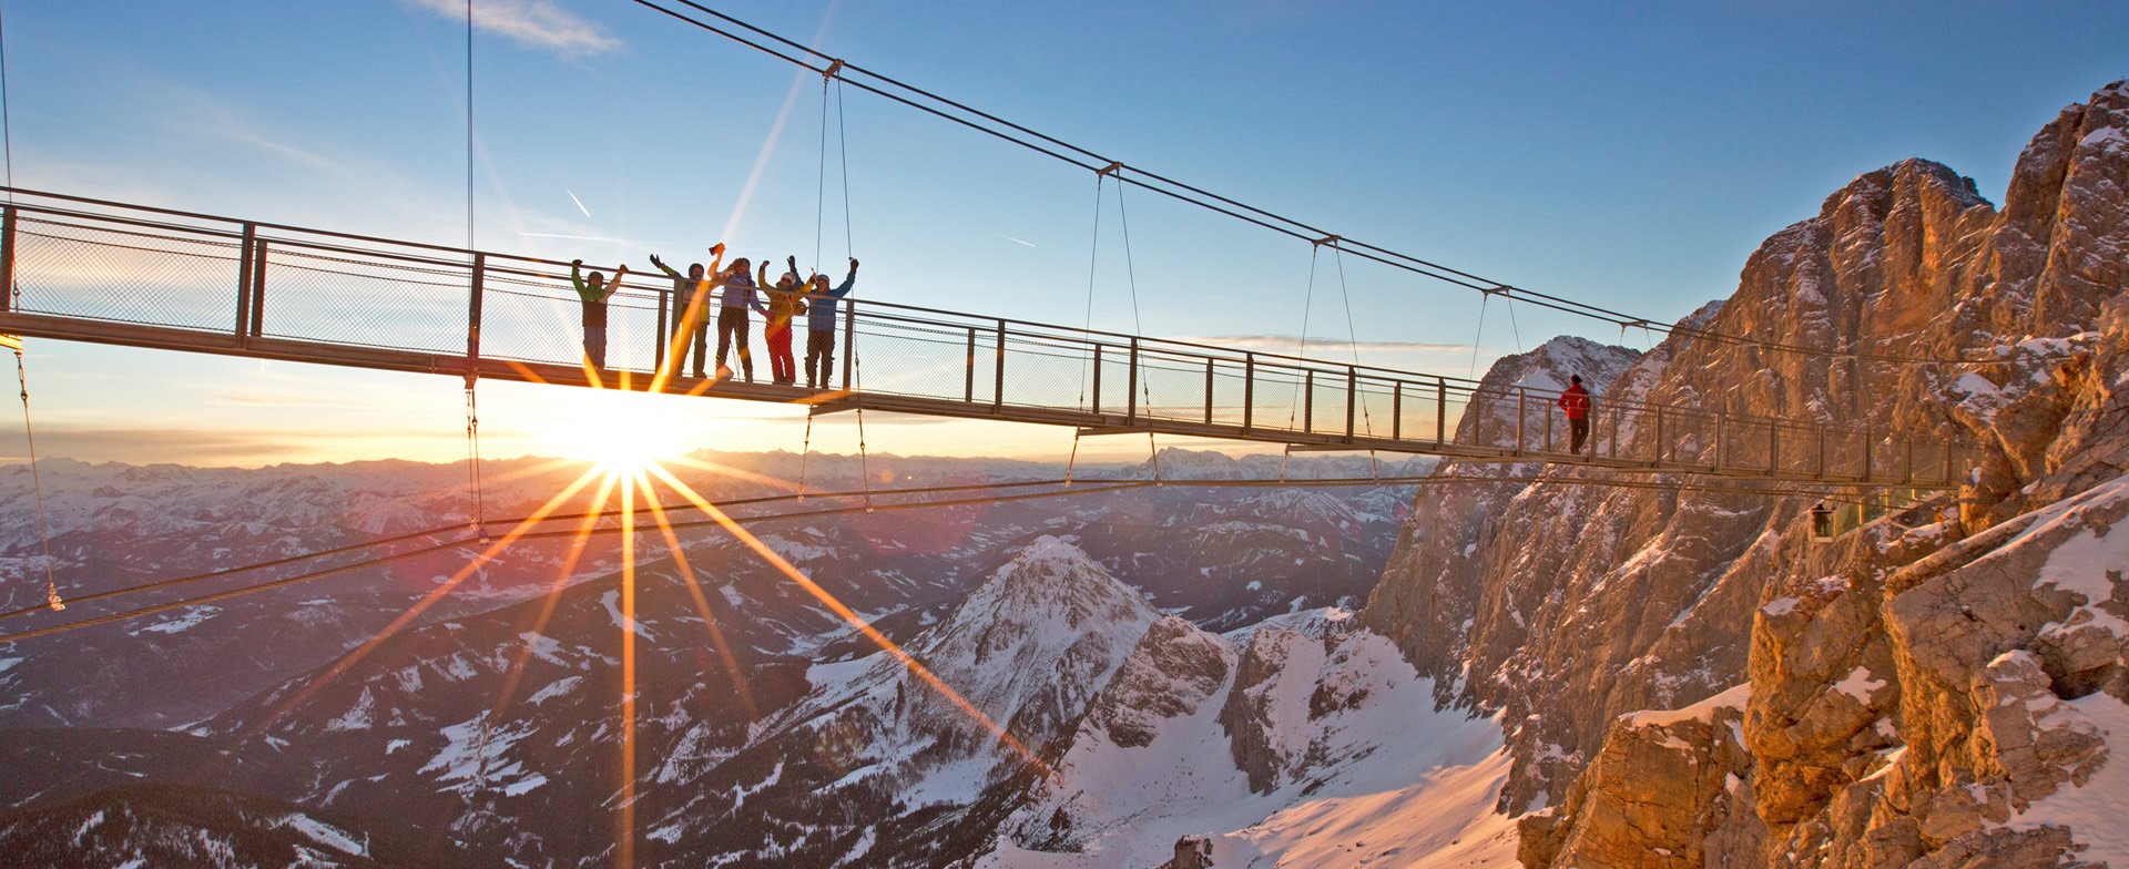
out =
[[[1090,173],[845,96],[815,209],[820,77],[626,0],[477,0],[475,243],[643,264],[867,262],[860,292],[1077,324]],[[2027,138],[2129,75],[2129,6],[2054,2],[730,2],[732,15],[1182,181],[1507,283],[1658,319],[1727,296],[1761,239],[1859,173],[1925,155],[2001,198]],[[464,19],[451,0],[6,6],[23,187],[464,241]],[[830,138],[830,149],[835,138]],[[749,183],[752,179],[752,183]],[[1094,326],[1128,330],[1107,200]],[[1299,337],[1309,247],[1126,194],[1139,311],[1169,337]],[[626,241],[585,241],[626,239]],[[1328,264],[1326,264],[1328,268]],[[1463,373],[1478,298],[1346,262],[1371,362]],[[1333,270],[1307,334],[1346,339]],[[1601,324],[1499,309],[1478,364]],[[1520,334],[1520,339],[1518,339]],[[1637,337],[1629,337],[1637,343]],[[1343,351],[1343,347],[1339,347]],[[445,377],[36,341],[49,456],[260,464],[453,458]],[[483,386],[492,454],[585,415],[681,443],[796,447],[752,405]],[[847,452],[845,422],[815,445]],[[579,432],[581,434],[581,432]],[[845,443],[847,441],[847,443]],[[1054,428],[886,426],[875,449],[1058,456]],[[19,434],[0,456],[21,454]],[[1143,445],[1103,443],[1124,456]]]

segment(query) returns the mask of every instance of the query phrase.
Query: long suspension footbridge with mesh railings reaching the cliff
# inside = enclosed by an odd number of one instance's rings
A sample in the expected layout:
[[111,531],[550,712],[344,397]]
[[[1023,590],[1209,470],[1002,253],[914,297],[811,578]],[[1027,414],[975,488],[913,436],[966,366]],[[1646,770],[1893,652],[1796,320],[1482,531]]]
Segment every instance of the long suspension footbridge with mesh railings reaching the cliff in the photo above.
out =
[[[1588,456],[1556,392],[1416,371],[847,298],[824,390],[658,377],[673,285],[630,275],[609,366],[581,364],[568,264],[15,192],[0,332],[558,386],[1778,481],[1950,488],[1963,447],[1780,417],[1599,398]],[[888,281],[864,283],[867,296]],[[803,328],[803,324],[801,324]],[[794,341],[803,345],[805,341]],[[711,337],[713,345],[713,337]],[[843,360],[858,360],[845,366]],[[711,360],[711,364],[715,364]],[[737,360],[735,360],[737,364]],[[596,383],[594,383],[596,381]]]

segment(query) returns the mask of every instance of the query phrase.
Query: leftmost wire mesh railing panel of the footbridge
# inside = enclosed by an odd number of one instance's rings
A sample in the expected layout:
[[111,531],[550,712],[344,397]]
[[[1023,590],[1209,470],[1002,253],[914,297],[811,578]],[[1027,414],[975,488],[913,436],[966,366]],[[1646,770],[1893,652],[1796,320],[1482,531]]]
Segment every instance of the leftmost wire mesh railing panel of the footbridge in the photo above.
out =
[[28,313],[234,332],[238,251],[234,239],[21,217],[17,305]]

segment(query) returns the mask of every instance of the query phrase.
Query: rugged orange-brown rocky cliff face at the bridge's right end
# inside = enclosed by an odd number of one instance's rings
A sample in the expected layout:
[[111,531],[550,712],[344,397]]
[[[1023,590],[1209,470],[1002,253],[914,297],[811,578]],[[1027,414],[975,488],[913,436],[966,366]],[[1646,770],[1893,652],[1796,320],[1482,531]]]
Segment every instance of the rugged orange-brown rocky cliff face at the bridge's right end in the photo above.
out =
[[[2129,469],[2125,251],[2114,83],[2033,138],[2001,209],[1933,162],[1867,173],[1690,317],[1833,354],[1673,337],[1592,379],[1599,396],[1871,428],[1835,454],[1978,443],[1957,511],[1829,545],[1795,496],[1599,490],[1567,469],[1422,492],[1365,620],[1441,701],[1503,711],[1501,805],[1546,807],[1524,820],[1526,865],[2106,852],[2106,824],[2063,805],[2110,775],[2103,735],[2129,694],[2110,616],[2125,558],[2093,556],[2129,511],[2106,494]],[[1618,437],[1633,454],[1654,432]],[[1622,718],[1716,694],[1661,726]]]

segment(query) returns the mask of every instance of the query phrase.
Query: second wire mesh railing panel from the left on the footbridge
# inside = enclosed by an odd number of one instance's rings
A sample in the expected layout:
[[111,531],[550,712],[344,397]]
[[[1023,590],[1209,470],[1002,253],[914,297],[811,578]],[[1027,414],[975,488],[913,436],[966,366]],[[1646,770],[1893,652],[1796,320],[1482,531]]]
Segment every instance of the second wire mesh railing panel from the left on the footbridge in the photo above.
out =
[[260,334],[360,347],[466,351],[473,268],[264,251]]

